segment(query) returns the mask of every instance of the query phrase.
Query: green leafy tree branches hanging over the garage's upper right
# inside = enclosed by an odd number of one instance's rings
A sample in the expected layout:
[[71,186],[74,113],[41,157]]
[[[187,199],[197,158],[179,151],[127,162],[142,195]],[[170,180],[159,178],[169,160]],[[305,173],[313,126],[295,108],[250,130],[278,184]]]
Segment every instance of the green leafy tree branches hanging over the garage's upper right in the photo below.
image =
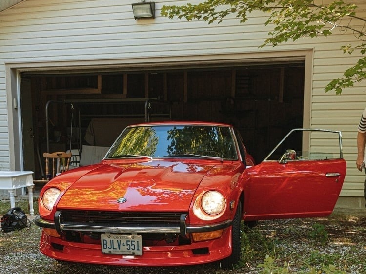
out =
[[[366,52],[366,19],[358,17],[358,7],[351,1],[335,0],[205,0],[199,4],[187,3],[182,6],[163,6],[161,14],[173,19],[203,20],[209,24],[220,23],[226,16],[235,14],[241,23],[248,20],[253,11],[268,13],[265,25],[273,25],[269,38],[261,47],[276,46],[289,40],[302,37],[328,36],[332,34],[352,33],[359,40],[356,44],[341,47],[345,54],[354,51],[362,55]],[[325,87],[325,92],[352,87],[354,83],[366,78],[366,57],[348,68],[343,76],[332,80]]]

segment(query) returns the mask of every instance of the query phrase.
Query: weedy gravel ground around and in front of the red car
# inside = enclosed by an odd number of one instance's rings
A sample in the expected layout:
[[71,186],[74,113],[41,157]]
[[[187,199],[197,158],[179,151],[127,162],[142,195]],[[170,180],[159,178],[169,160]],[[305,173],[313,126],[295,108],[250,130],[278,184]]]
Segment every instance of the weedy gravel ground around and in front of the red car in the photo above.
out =
[[[332,215],[261,221],[255,228],[243,226],[243,259],[231,270],[221,270],[217,265],[149,268],[60,263],[39,252],[40,235],[41,229],[34,223],[17,232],[0,232],[1,273],[305,274],[311,268],[319,271],[311,273],[330,273],[333,265],[338,271],[333,273],[366,273],[364,216]],[[268,271],[259,264],[267,266]]]

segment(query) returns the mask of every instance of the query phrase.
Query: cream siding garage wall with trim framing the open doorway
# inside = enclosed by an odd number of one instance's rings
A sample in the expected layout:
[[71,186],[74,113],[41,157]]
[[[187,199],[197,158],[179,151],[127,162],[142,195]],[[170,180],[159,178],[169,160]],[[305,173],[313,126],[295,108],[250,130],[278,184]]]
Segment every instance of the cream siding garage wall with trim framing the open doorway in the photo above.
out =
[[[357,53],[348,56],[340,50],[342,45],[357,42],[352,33],[259,49],[270,30],[264,26],[266,17],[262,13],[254,12],[245,24],[232,16],[208,25],[160,16],[164,4],[198,1],[157,0],[155,19],[134,20],[132,2],[136,0],[26,0],[0,13],[1,169],[19,166],[14,159],[20,152],[13,132],[19,121],[9,89],[19,89],[14,85],[20,69],[180,64],[225,58],[268,60],[293,57],[299,50],[299,55],[304,55],[303,51],[312,53],[305,64],[305,92],[308,89],[310,95],[305,98],[304,125],[343,132],[347,175],[341,196],[361,201],[365,175],[355,168],[355,159],[357,124],[366,106],[365,81],[342,95],[324,91],[331,79],[341,77],[360,58]],[[364,1],[352,2],[361,7],[358,16],[365,18]]]

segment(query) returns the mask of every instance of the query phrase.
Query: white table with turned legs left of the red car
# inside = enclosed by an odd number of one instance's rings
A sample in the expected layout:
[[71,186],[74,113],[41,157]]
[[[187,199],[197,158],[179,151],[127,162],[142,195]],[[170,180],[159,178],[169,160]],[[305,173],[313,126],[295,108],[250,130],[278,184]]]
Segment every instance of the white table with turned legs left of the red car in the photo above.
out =
[[15,207],[14,190],[28,188],[29,213],[34,215],[33,208],[33,171],[0,171],[0,189],[8,190],[10,195],[10,206]]

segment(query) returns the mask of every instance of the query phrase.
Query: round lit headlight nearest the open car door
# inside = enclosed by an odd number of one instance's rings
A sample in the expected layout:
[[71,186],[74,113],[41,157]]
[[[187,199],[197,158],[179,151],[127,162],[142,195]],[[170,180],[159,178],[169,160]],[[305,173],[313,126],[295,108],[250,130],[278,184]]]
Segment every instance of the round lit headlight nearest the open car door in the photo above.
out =
[[220,192],[211,190],[197,196],[193,213],[204,221],[214,220],[224,214],[226,200]]

